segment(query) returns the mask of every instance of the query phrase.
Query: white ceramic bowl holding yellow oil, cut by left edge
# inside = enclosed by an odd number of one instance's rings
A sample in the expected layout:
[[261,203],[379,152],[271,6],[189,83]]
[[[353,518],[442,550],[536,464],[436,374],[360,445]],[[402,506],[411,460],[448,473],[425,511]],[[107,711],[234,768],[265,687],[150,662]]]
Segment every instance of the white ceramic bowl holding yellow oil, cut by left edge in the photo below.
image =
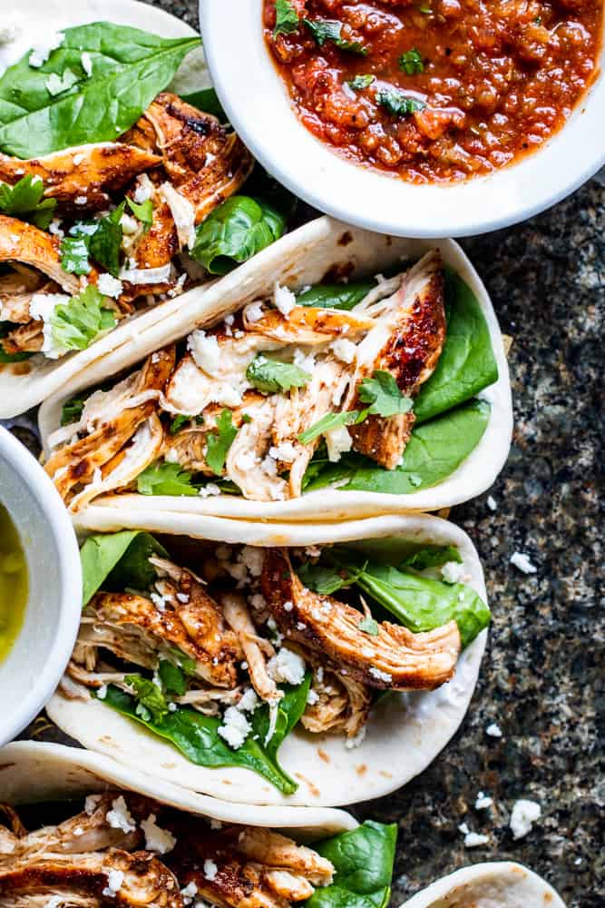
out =
[[53,483],[2,427],[0,502],[21,538],[29,575],[24,624],[0,662],[0,745],[5,745],[42,709],[63,675],[80,624],[82,573],[72,523]]

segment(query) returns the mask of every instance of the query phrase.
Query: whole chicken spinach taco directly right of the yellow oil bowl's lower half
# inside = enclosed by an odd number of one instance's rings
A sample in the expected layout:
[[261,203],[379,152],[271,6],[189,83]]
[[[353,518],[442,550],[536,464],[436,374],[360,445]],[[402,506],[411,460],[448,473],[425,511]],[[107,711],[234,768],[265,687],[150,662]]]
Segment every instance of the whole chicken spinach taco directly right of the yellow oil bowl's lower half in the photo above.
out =
[[301,545],[296,526],[288,548],[87,538],[82,624],[48,716],[90,750],[244,804],[403,785],[460,725],[490,612],[462,530],[367,523],[355,538],[332,527],[329,546]]

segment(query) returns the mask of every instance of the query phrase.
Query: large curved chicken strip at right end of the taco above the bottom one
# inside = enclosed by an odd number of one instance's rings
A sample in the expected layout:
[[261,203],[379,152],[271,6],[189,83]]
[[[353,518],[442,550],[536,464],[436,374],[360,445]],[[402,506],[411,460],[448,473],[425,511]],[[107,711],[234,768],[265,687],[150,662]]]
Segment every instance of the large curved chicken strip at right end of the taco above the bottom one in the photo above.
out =
[[454,675],[461,649],[455,621],[424,634],[383,621],[371,637],[358,628],[361,612],[304,587],[278,548],[265,554],[261,584],[282,634],[324,654],[340,676],[382,690],[433,690]]

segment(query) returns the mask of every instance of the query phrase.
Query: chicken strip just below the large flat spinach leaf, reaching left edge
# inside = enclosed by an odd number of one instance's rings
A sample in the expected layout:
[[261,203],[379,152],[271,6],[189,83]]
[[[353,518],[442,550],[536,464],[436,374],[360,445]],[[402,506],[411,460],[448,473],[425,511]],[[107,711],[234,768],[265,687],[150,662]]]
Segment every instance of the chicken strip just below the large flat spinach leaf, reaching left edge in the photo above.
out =
[[0,154],[0,181],[12,184],[24,176],[38,176],[44,182],[46,198],[56,199],[63,210],[81,214],[106,208],[112,195],[131,183],[138,173],[159,163],[158,154],[134,145],[103,142],[67,148],[29,161]]

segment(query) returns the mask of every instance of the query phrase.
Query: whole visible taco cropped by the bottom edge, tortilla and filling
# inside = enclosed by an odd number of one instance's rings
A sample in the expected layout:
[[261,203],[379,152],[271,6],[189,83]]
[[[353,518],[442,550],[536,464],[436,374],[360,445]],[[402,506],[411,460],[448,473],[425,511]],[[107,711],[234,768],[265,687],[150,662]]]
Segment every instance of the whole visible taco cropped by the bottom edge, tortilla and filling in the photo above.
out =
[[[247,825],[232,807],[225,820],[215,816],[225,813],[220,802],[200,813],[186,793],[171,786],[164,793],[143,775],[117,787],[111,761],[98,755],[82,765],[71,748],[30,743],[9,745],[3,755],[10,761],[0,768],[0,792],[10,802],[0,807],[3,908],[388,903],[395,825],[357,826],[336,811],[313,822],[303,811],[298,826],[311,844],[299,844],[268,828],[262,808]],[[38,776],[51,804],[35,795]],[[187,813],[169,805],[175,795]],[[62,803],[65,797],[71,800]],[[23,801],[34,810],[17,813],[14,804]]]

